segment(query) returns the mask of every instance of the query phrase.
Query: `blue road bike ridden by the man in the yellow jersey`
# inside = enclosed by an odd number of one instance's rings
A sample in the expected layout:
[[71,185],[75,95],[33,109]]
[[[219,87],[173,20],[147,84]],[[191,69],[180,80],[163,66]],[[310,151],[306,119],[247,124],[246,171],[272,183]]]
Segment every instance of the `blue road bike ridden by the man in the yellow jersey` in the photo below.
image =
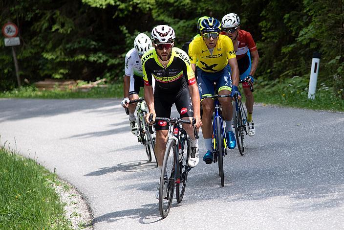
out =
[[227,143],[226,143],[226,135],[225,130],[223,128],[223,119],[220,115],[220,102],[218,98],[220,97],[230,97],[230,94],[226,95],[218,95],[217,90],[214,83],[215,95],[209,96],[202,96],[202,99],[205,98],[213,98],[214,99],[214,120],[213,120],[213,135],[212,135],[212,142],[213,142],[213,162],[218,162],[218,173],[221,177],[221,186],[223,187],[225,184],[224,181],[224,174],[223,174],[223,157],[227,155]]

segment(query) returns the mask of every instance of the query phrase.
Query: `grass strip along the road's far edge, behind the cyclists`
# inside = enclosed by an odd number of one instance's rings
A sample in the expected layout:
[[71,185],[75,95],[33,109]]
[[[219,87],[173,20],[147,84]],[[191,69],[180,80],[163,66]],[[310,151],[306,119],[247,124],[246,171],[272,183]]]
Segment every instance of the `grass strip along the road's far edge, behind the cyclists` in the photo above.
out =
[[[319,85],[319,84],[318,84]],[[308,78],[295,76],[286,79],[256,80],[255,102],[313,110],[344,111],[343,89],[338,92],[325,84],[318,86],[315,99],[308,99]],[[144,96],[143,90],[140,96]],[[94,87],[88,92],[39,91],[33,86],[20,87],[0,93],[0,98],[123,98],[123,83]]]

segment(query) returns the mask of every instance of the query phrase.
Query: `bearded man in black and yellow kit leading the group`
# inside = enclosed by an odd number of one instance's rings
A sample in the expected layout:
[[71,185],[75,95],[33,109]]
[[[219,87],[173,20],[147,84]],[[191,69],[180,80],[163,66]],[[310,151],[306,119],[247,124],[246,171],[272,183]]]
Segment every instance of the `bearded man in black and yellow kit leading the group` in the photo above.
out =
[[[200,100],[194,71],[191,68],[189,56],[181,49],[173,47],[175,33],[168,25],[158,25],[151,31],[153,47],[142,56],[142,71],[145,82],[145,100],[149,109],[148,117],[170,117],[172,105],[175,104],[180,117],[196,119],[196,127],[202,125],[200,119]],[[155,79],[154,93],[152,78]],[[197,165],[198,140],[194,137],[191,125],[184,125],[184,129],[191,138],[191,156],[188,164]],[[167,143],[169,125],[166,121],[156,121],[155,154],[158,165],[162,166]],[[159,199],[159,186],[157,190]]]

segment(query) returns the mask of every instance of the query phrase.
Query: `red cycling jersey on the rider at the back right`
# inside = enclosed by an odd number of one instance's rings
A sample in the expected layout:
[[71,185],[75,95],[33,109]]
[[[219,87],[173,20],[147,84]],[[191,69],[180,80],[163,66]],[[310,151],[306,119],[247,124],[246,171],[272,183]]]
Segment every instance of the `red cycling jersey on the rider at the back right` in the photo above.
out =
[[[226,32],[221,32],[220,34],[227,35]],[[238,46],[237,46],[237,60],[241,59],[244,57],[247,53],[248,50],[255,51],[257,50],[257,46],[255,41],[253,41],[252,35],[242,29],[238,30]],[[235,46],[235,44],[233,44]]]

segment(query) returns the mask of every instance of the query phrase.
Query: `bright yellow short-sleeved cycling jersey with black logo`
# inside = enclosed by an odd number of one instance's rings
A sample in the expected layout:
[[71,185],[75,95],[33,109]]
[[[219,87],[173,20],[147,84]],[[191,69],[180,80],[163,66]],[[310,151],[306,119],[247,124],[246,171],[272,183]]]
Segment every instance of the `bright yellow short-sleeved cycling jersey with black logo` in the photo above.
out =
[[196,64],[198,60],[197,66],[200,69],[206,72],[217,72],[227,66],[229,59],[236,58],[236,52],[232,40],[220,34],[211,53],[201,36],[190,43],[189,57],[192,64]]

